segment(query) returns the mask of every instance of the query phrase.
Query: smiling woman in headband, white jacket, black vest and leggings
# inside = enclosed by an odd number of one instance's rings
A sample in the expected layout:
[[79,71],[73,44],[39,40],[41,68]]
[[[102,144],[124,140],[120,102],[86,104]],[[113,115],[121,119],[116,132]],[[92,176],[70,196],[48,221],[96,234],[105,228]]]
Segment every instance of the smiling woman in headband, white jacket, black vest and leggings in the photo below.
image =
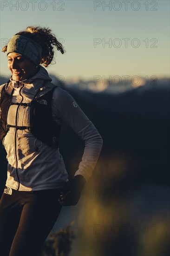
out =
[[[8,161],[0,200],[1,256],[40,255],[62,206],[77,204],[102,148],[92,121],[41,66],[52,62],[54,46],[64,54],[50,29],[27,27],[2,49],[12,75],[0,86],[0,140]],[[85,141],[82,161],[70,181],[59,153],[63,121]]]

